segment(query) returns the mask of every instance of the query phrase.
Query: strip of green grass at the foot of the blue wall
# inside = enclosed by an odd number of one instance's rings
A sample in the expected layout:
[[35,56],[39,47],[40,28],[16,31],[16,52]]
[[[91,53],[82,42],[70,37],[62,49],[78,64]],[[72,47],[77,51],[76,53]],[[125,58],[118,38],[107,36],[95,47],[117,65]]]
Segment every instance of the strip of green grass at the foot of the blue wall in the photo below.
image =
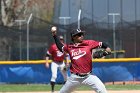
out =
[[[55,90],[59,90],[62,85],[56,85]],[[140,90],[140,85],[106,85],[107,90]],[[45,84],[0,84],[0,92],[33,92],[50,91],[50,85]],[[91,90],[90,87],[81,86],[76,90]]]

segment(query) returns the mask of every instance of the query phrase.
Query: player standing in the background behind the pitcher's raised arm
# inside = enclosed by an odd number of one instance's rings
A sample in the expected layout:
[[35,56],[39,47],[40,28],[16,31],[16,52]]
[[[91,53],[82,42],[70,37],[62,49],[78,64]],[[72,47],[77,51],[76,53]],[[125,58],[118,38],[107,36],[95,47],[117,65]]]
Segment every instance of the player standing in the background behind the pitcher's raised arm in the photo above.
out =
[[[62,44],[64,39],[63,36],[59,36],[59,40]],[[51,72],[52,72],[52,77],[51,77],[51,91],[54,93],[54,86],[55,86],[55,81],[57,78],[57,70],[60,69],[64,81],[67,80],[67,71],[66,71],[66,66],[64,63],[64,58],[66,57],[66,64],[68,64],[68,55],[66,53],[62,53],[61,51],[58,50],[56,44],[52,44],[49,50],[46,53],[46,67],[49,68],[49,63],[48,59],[49,57],[52,58],[52,63],[51,63]]]

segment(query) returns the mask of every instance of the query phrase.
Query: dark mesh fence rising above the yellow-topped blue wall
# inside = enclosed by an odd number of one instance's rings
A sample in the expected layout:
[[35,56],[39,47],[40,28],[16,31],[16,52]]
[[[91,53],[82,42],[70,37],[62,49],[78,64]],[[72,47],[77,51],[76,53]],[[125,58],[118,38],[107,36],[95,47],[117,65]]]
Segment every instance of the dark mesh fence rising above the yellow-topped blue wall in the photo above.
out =
[[[95,22],[88,18],[81,21],[81,29],[85,30],[85,39],[94,39],[106,42],[113,49],[113,24]],[[137,24],[136,24],[137,23]],[[140,57],[140,24],[121,20],[116,24],[116,57]],[[58,27],[58,35],[66,36],[66,43],[71,42],[70,31],[77,28],[77,22],[69,25],[60,25],[33,17],[29,27],[29,59],[44,59],[44,55],[51,43],[54,42],[50,27]],[[0,26],[0,60],[27,59],[27,24],[26,22],[12,28]],[[110,57],[113,57],[111,55]]]

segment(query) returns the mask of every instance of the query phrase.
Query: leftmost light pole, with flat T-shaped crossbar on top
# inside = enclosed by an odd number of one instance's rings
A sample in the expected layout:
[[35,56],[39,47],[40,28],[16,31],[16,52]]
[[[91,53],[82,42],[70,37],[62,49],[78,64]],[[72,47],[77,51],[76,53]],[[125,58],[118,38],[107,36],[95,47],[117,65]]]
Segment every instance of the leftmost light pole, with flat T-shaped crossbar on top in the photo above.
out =
[[[21,25],[22,22],[25,22],[26,20],[15,20],[15,22],[19,23],[19,30],[21,31]],[[20,55],[20,60],[22,60],[22,37],[21,37],[21,32],[19,32],[19,55]]]

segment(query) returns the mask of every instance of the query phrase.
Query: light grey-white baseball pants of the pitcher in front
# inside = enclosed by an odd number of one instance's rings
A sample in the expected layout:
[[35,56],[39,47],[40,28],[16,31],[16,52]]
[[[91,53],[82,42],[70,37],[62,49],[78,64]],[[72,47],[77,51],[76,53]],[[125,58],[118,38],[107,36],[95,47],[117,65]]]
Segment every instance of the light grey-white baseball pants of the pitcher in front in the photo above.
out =
[[90,86],[96,93],[107,93],[107,90],[101,80],[97,76],[91,74],[86,77],[71,74],[65,85],[63,85],[60,89],[59,93],[71,93],[80,85]]

